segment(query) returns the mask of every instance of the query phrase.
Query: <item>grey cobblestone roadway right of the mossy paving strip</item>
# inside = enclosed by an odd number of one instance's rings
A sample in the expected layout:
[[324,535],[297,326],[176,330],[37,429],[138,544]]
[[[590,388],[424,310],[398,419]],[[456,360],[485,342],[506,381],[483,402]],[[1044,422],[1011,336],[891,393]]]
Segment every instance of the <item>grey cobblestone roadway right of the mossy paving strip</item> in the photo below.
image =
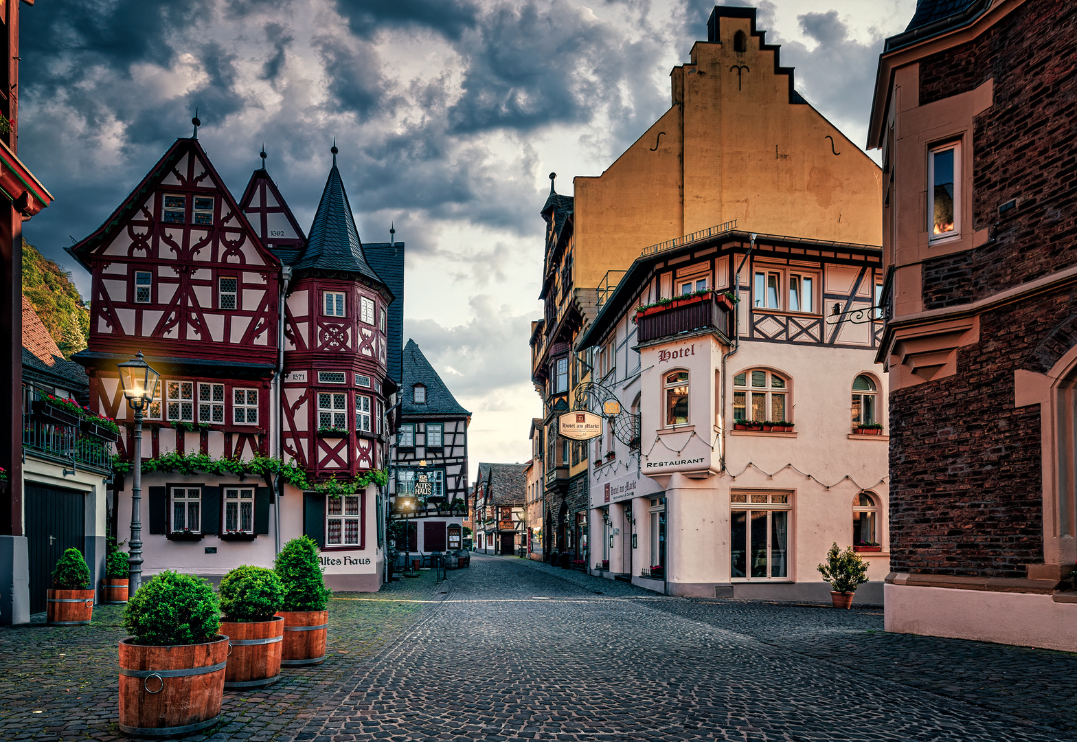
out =
[[[1077,656],[480,557],[299,740],[1072,740]],[[350,687],[349,687],[350,686]],[[956,702],[955,702],[956,701]]]

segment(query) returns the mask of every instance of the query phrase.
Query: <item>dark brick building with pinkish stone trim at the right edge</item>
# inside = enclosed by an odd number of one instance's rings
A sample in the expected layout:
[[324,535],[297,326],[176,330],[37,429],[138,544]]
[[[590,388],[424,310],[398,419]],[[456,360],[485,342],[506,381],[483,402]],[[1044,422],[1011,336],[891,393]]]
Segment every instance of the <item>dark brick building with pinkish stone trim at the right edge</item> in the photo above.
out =
[[880,58],[891,631],[1077,648],[1075,38],[920,0]]

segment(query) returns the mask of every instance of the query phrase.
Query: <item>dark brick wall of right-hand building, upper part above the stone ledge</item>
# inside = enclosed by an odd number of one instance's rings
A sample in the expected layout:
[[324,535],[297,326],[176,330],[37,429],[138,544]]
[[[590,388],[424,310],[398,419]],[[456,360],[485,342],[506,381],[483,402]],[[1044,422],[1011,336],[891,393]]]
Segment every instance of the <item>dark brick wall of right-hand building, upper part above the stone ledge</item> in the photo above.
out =
[[[927,103],[994,79],[973,129],[973,221],[988,244],[923,265],[924,307],[965,304],[1077,263],[1077,3],[1026,2],[920,65]],[[966,140],[967,141],[967,140]],[[999,215],[1010,199],[1018,206]]]

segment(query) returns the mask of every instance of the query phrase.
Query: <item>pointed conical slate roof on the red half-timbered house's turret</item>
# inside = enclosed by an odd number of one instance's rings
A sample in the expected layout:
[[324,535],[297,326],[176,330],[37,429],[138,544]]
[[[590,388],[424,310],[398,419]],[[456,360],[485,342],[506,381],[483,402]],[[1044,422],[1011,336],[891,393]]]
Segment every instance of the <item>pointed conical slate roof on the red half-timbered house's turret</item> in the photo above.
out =
[[292,268],[297,272],[325,270],[360,274],[384,284],[363,255],[363,243],[359,239],[355,218],[351,213],[348,194],[340,180],[335,154],[322,200],[318,204],[318,212],[310,225],[307,247],[299,260],[292,264]]

